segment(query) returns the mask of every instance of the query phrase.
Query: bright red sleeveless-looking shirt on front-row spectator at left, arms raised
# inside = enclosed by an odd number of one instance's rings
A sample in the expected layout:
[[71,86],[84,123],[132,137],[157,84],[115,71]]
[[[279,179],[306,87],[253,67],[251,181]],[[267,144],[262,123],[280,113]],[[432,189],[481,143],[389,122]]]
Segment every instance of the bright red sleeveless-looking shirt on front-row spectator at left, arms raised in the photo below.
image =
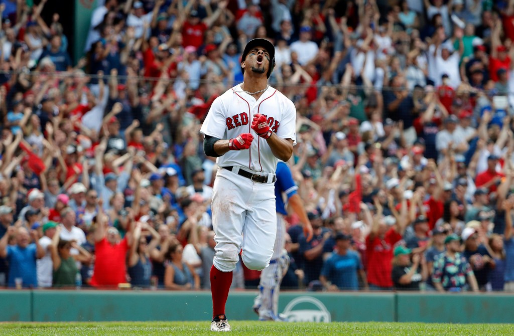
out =
[[125,259],[128,251],[126,238],[119,244],[111,245],[106,238],[95,244],[95,268],[91,286],[118,286],[126,282]]

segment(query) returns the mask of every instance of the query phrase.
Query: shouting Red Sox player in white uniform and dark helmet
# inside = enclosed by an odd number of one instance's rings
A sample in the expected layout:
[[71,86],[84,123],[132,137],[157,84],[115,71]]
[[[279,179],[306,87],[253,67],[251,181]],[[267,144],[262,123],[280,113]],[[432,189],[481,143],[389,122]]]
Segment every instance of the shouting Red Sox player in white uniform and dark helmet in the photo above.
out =
[[211,330],[229,331],[225,315],[232,271],[242,251],[246,267],[269,265],[277,230],[274,182],[278,160],[296,143],[295,105],[268,85],[275,48],[264,39],[245,46],[243,84],[214,100],[201,126],[206,155],[219,166],[212,191],[216,234],[211,268]]

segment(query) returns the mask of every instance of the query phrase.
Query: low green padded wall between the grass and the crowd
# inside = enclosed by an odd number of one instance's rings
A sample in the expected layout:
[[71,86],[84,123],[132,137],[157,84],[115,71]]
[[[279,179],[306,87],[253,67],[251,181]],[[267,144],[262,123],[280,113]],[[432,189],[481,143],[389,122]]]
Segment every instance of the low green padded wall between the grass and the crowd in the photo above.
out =
[[[256,292],[234,291],[231,320],[255,320]],[[205,321],[208,291],[0,290],[0,321]],[[284,292],[279,311],[293,321],[511,323],[514,295]]]

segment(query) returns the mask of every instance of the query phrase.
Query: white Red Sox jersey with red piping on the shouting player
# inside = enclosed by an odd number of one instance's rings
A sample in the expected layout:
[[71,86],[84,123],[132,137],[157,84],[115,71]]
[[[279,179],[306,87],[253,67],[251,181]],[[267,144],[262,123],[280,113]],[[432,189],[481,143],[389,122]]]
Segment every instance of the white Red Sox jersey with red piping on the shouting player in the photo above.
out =
[[218,157],[219,166],[242,166],[262,173],[274,173],[278,159],[265,139],[251,129],[253,116],[262,114],[268,119],[273,133],[296,144],[296,107],[287,97],[271,86],[258,99],[246,94],[241,85],[227,90],[214,100],[200,133],[219,139],[232,139],[243,133],[254,137],[248,150],[229,151]]

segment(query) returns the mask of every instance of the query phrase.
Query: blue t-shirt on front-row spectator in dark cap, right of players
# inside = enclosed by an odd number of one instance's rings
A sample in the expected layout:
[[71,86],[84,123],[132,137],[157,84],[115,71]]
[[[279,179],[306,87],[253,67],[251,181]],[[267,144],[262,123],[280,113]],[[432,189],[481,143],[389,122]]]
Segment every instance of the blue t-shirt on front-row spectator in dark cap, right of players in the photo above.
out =
[[339,289],[359,289],[357,270],[362,269],[359,254],[348,250],[345,255],[333,253],[325,260],[321,275],[336,285]]

